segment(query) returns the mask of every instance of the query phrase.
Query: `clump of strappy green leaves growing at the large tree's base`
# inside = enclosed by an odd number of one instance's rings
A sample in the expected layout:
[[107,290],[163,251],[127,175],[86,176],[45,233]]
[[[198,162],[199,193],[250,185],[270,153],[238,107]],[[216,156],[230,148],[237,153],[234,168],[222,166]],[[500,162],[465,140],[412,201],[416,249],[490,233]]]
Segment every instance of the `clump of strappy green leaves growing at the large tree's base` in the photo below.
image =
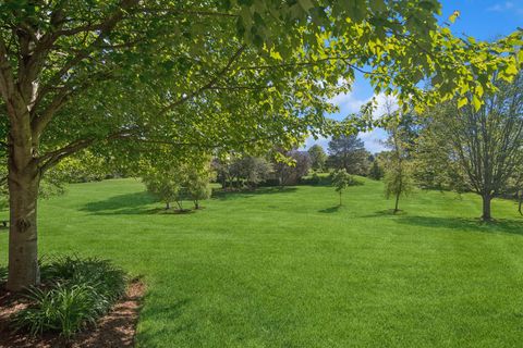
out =
[[31,306],[14,318],[32,335],[58,332],[70,338],[107,313],[125,291],[125,274],[107,260],[61,257],[41,266],[45,287],[31,288]]

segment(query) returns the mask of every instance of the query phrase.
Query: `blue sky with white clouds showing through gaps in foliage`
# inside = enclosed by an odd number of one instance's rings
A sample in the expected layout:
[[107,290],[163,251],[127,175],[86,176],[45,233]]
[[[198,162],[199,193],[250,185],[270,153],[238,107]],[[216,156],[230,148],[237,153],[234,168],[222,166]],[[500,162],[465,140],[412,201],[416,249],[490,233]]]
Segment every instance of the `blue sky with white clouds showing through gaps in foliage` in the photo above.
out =
[[[514,32],[518,26],[523,27],[523,0],[497,1],[497,0],[440,0],[443,7],[441,18],[446,20],[455,10],[461,15],[450,27],[454,35],[469,35],[479,40],[492,40]],[[357,112],[360,107],[370,100],[373,88],[368,82],[356,74],[356,80],[350,94],[337,96],[333,101],[340,108],[340,112],[329,115],[336,120],[342,120],[352,112]],[[378,97],[378,101],[384,98]],[[384,150],[380,141],[386,137],[382,129],[362,133],[360,137],[370,152]],[[306,148],[313,144],[320,144],[327,149],[329,139],[307,139]]]

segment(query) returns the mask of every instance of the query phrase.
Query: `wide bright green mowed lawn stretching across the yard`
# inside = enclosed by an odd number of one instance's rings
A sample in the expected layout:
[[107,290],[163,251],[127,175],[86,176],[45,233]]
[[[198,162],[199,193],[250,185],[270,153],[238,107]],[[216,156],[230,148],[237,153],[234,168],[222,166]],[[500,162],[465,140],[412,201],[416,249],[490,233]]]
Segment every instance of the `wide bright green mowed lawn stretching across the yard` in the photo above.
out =
[[[497,200],[300,186],[160,214],[135,179],[40,202],[42,254],[97,256],[148,286],[138,347],[521,347],[523,219]],[[187,202],[187,206],[190,203]],[[0,234],[1,263],[7,234]]]

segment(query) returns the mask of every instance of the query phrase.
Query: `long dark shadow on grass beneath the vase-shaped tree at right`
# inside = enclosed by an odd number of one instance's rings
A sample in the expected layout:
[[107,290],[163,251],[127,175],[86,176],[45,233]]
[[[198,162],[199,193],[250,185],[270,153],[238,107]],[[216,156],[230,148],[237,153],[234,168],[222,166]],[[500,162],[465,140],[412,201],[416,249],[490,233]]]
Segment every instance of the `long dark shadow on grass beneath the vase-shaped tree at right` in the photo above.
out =
[[521,220],[500,219],[492,222],[483,222],[479,219],[471,217],[400,216],[394,221],[400,224],[429,228],[523,235],[523,221]]

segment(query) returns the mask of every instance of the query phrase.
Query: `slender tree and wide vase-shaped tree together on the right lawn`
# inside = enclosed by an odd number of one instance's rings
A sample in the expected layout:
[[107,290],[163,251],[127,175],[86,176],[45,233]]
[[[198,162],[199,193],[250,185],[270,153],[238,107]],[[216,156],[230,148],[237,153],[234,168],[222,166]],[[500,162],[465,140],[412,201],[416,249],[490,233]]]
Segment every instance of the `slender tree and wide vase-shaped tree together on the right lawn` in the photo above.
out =
[[490,203],[497,196],[516,198],[522,212],[523,77],[495,84],[498,91],[486,94],[477,110],[454,99],[423,113],[386,115],[389,151],[377,154],[372,173],[378,177],[385,172],[394,211],[400,196],[417,185],[479,195],[485,221],[492,217]]

